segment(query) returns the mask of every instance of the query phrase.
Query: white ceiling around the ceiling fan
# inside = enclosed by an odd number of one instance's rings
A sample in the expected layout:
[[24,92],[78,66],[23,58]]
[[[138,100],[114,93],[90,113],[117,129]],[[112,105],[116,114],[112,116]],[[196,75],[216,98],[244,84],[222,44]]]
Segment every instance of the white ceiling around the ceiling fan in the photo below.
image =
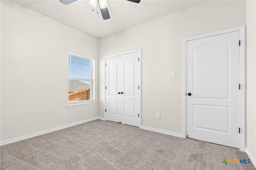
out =
[[205,1],[141,0],[136,4],[126,0],[108,0],[109,20],[103,20],[99,8],[93,12],[88,0],[78,0],[68,5],[60,3],[59,0],[12,0],[12,2],[100,39]]

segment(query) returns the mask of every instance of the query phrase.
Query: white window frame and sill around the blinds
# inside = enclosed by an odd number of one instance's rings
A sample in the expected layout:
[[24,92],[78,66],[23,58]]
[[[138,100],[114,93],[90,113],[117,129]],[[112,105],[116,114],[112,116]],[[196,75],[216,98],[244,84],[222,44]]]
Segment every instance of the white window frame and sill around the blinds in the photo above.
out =
[[[91,74],[91,79],[90,79],[90,81],[92,81],[92,83],[90,85],[90,94],[91,94],[90,96],[92,96],[92,99],[83,100],[83,101],[68,101],[67,108],[95,105],[96,104],[96,101],[95,101],[95,58],[87,56],[87,55],[79,54],[79,53],[74,53],[72,51],[68,51],[68,59],[69,59],[70,55],[85,58],[85,59],[90,59],[93,62],[92,70],[91,70],[92,74]],[[68,61],[68,70],[69,70],[69,61]],[[69,88],[69,80],[70,79],[76,79],[76,78],[70,78],[69,74],[68,74],[68,88]]]

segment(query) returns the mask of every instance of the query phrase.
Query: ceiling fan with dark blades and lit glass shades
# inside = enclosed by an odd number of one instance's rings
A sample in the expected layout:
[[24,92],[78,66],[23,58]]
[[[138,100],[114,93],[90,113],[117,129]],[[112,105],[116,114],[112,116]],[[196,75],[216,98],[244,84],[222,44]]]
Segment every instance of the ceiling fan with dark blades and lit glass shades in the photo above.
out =
[[[68,5],[75,1],[77,1],[77,0],[60,0],[60,2],[65,5]],[[128,1],[140,3],[140,0],[128,0]],[[100,6],[100,12],[102,14],[103,20],[109,19],[110,15],[108,13],[107,0],[89,0],[89,2],[88,2],[88,5],[92,6],[93,8],[96,8],[97,4],[99,4],[99,6]]]

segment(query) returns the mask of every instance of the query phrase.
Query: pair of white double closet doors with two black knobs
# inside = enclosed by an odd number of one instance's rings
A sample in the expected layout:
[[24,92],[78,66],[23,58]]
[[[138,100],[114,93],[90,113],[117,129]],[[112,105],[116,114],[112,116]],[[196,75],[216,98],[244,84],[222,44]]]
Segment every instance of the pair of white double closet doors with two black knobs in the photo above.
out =
[[139,126],[139,52],[106,58],[105,119]]

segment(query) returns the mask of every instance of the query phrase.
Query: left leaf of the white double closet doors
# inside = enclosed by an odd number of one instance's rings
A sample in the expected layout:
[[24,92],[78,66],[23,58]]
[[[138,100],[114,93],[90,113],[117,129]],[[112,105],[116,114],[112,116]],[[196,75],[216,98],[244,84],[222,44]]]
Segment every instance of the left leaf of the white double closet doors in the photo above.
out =
[[113,122],[121,122],[121,107],[119,89],[121,57],[106,58],[106,112],[105,119]]

